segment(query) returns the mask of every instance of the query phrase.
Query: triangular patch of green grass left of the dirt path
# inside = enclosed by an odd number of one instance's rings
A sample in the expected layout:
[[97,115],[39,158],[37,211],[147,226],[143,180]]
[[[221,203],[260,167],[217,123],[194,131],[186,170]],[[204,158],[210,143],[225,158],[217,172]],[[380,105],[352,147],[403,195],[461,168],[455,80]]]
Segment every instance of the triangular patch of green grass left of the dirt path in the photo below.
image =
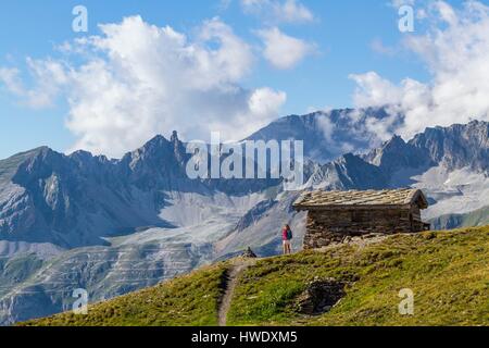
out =
[[89,315],[62,313],[26,326],[215,326],[227,263],[89,306]]

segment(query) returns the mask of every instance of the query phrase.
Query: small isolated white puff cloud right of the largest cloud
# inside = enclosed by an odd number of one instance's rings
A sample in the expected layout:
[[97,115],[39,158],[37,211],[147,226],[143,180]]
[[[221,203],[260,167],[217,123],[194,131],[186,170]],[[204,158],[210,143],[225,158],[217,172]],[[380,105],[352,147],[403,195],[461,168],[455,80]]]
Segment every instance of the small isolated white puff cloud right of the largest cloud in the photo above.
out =
[[264,44],[263,55],[276,69],[291,69],[315,51],[313,44],[288,36],[276,27],[259,30],[258,35]]

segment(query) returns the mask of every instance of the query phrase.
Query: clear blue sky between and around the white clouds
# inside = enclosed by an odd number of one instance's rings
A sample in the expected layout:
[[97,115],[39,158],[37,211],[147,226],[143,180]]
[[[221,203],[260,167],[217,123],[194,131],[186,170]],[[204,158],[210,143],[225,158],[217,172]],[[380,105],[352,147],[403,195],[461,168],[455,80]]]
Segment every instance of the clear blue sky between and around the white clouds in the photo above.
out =
[[[412,0],[406,2],[411,3]],[[460,7],[462,1],[448,3]],[[88,9],[87,34],[72,30],[72,9],[77,4]],[[220,23],[227,25],[236,37],[250,46],[254,57],[252,69],[240,75],[239,80],[233,79],[231,84],[250,91],[266,87],[285,92],[287,99],[280,104],[279,115],[303,114],[312,109],[352,107],[355,82],[349,78],[350,74],[372,71],[392,84],[399,84],[406,77],[421,83],[428,83],[432,78],[434,71],[427,69],[426,61],[418,54],[398,49],[405,34],[398,29],[398,8],[391,1],[303,0],[296,1],[296,4],[308,9],[313,20],[287,23],[269,18],[264,13],[247,12],[241,0],[2,1],[0,66],[17,69],[20,78],[28,88],[34,82],[27,73],[27,57],[63,61],[66,58],[61,57],[57,46],[92,35],[103,36],[98,24],[121,23],[124,17],[140,15],[148,25],[171,26],[190,40],[199,35],[204,21],[218,17]],[[425,24],[416,25],[416,30],[423,33]],[[293,66],[277,69],[259,51],[263,42],[258,32],[269,28],[277,28],[287,36],[306,42],[311,50]],[[375,49],[373,42],[383,42],[381,47],[389,49]],[[71,64],[77,64],[76,54],[70,59]],[[60,88],[72,87],[63,85]],[[0,84],[0,158],[41,145],[66,151],[78,145],[91,144],[88,140],[77,142],[84,136],[85,128],[79,130],[75,126],[66,126],[73,109],[68,98],[57,96],[46,108],[29,108],[8,86]],[[168,135],[173,130],[162,127],[158,128],[158,133]],[[145,132],[141,132],[140,139],[124,142],[121,147],[128,150],[148,135]],[[100,151],[108,147],[110,145],[101,147]]]

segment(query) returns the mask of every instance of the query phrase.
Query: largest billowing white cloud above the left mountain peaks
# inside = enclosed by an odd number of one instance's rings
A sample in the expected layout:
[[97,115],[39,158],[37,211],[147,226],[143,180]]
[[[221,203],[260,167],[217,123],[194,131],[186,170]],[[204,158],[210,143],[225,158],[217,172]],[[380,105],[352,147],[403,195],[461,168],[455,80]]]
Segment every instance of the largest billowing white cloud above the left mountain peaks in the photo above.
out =
[[[73,149],[118,157],[173,129],[187,140],[209,140],[213,130],[223,140],[241,139],[277,117],[286,101],[284,92],[240,86],[253,66],[252,49],[217,18],[192,39],[139,16],[100,29],[64,46],[84,63],[29,60],[34,86],[11,88],[21,97],[48,91],[46,101],[64,91],[66,126],[78,139]],[[12,72],[0,77],[16,86]]]

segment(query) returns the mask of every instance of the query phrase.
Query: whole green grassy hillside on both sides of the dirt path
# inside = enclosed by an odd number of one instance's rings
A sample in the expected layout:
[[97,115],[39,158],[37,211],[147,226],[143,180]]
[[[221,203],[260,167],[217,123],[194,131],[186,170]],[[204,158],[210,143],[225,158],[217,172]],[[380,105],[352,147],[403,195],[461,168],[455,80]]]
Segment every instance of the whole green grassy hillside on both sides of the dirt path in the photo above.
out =
[[[216,325],[226,275],[222,262],[139,293],[23,325]],[[304,315],[298,299],[313,279],[347,284],[329,312]],[[239,274],[228,325],[489,325],[489,226],[396,235],[258,260]],[[401,315],[399,290],[414,291]]]

